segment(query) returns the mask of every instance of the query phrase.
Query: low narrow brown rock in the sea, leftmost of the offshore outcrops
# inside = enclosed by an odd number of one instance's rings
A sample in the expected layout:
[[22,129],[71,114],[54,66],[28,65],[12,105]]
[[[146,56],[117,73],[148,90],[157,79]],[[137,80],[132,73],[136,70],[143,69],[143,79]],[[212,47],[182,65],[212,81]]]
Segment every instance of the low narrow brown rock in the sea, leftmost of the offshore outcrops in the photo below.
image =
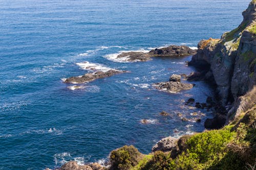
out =
[[100,78],[105,78],[105,77],[110,77],[115,74],[120,74],[126,71],[119,71],[119,70],[108,70],[106,72],[103,71],[96,71],[93,73],[88,73],[83,76],[78,76],[78,77],[71,77],[65,80],[64,83],[85,83],[85,82],[90,82],[95,79],[100,79]]

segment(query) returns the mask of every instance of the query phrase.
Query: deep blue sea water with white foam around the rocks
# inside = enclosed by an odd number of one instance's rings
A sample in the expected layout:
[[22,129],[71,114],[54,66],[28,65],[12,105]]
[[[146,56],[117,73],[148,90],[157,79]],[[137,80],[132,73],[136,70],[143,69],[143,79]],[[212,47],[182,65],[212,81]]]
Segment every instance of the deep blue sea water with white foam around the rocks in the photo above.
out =
[[[149,153],[162,137],[203,131],[203,121],[181,122],[177,113],[210,117],[184,101],[205,102],[211,87],[193,82],[176,94],[152,87],[193,71],[184,63],[191,56],[122,63],[114,54],[219,38],[239,25],[249,2],[0,1],[0,169],[103,161],[124,144]],[[72,90],[62,79],[89,72],[76,64],[84,61],[131,72]]]

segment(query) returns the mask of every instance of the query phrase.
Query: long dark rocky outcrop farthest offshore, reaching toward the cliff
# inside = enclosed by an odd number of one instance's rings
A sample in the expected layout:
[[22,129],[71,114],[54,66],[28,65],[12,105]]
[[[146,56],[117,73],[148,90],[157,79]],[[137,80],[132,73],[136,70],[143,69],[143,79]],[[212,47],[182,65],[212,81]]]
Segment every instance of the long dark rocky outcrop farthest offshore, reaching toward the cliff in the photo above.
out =
[[148,53],[143,52],[124,52],[117,56],[117,58],[127,57],[127,61],[148,61],[151,57],[168,56],[179,57],[196,54],[196,50],[192,50],[188,46],[170,45],[168,47],[156,48]]

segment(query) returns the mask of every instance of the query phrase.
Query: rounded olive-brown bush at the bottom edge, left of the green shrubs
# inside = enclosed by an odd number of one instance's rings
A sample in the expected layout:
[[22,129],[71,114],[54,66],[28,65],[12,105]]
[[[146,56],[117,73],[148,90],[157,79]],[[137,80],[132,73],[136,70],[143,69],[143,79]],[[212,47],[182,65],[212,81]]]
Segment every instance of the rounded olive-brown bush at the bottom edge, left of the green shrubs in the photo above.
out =
[[141,153],[133,146],[125,145],[110,154],[110,169],[128,170],[138,164]]

